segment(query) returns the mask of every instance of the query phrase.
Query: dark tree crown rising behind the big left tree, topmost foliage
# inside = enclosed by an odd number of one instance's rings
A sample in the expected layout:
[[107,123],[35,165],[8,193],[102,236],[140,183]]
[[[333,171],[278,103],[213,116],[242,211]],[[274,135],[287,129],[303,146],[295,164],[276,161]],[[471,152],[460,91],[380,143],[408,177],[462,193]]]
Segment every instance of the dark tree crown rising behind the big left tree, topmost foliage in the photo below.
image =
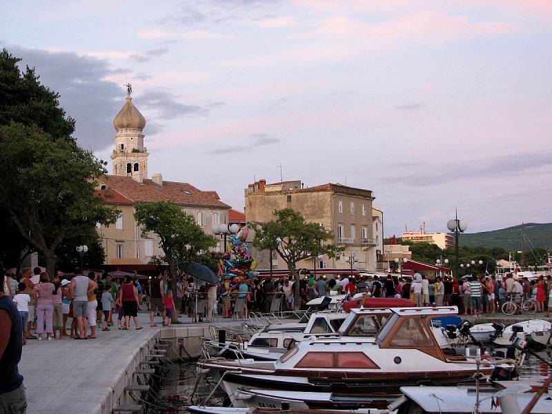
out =
[[59,94],[40,84],[34,68],[21,73],[19,61],[6,49],[0,52],[0,125],[36,126],[52,139],[71,140],[75,120],[59,106]]

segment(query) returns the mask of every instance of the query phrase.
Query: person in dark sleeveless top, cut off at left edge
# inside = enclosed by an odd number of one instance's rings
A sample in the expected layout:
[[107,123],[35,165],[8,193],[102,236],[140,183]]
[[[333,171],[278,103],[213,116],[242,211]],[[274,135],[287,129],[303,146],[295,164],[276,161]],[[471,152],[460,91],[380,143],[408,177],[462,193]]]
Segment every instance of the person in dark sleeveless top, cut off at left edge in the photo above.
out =
[[[0,271],[0,286],[4,277]],[[12,298],[0,289],[0,413],[25,414],[27,410],[23,377],[17,369],[22,346],[21,317]]]

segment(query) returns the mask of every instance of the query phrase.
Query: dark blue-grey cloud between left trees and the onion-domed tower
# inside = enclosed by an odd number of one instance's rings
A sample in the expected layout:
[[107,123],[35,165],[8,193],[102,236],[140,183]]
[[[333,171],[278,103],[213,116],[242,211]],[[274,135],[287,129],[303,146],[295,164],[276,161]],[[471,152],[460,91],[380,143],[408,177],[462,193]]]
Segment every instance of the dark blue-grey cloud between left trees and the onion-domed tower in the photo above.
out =
[[123,106],[121,86],[105,78],[117,74],[102,59],[77,55],[74,52],[50,52],[6,45],[24,70],[36,68],[44,86],[59,92],[59,101],[68,116],[76,121],[73,136],[79,146],[99,150],[113,143],[113,118]]

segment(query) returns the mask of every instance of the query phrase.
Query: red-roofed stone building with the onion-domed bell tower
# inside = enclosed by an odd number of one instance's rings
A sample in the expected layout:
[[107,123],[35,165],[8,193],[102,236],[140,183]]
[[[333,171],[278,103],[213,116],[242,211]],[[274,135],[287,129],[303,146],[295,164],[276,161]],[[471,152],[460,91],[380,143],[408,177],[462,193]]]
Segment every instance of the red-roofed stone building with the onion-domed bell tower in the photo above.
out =
[[[220,201],[215,191],[202,191],[191,184],[164,181],[161,174],[148,178],[148,151],[144,146],[146,119],[128,96],[115,117],[115,149],[112,152],[113,175],[99,179],[97,194],[104,203],[121,210],[115,224],[97,226],[103,240],[106,264],[147,264],[153,256],[163,256],[159,237],[141,236],[134,212],[135,205],[149,201],[170,201],[195,217],[201,228],[211,234],[214,224],[228,223],[230,206]],[[218,249],[224,248],[223,242]]]

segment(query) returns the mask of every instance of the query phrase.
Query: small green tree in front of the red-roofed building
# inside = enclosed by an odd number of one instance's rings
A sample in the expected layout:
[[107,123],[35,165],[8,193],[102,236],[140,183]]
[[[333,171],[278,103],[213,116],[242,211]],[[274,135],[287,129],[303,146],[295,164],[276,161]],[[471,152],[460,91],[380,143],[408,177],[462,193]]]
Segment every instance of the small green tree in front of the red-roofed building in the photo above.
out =
[[168,263],[172,277],[173,290],[176,290],[174,276],[177,263],[191,262],[201,252],[217,246],[215,237],[206,235],[192,216],[168,201],[137,204],[134,217],[142,228],[142,237],[150,232],[159,237],[159,245],[165,253],[164,260]]

